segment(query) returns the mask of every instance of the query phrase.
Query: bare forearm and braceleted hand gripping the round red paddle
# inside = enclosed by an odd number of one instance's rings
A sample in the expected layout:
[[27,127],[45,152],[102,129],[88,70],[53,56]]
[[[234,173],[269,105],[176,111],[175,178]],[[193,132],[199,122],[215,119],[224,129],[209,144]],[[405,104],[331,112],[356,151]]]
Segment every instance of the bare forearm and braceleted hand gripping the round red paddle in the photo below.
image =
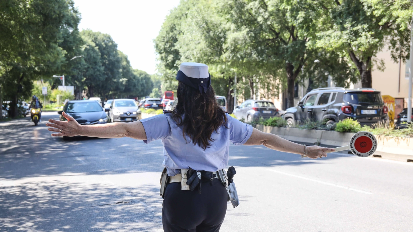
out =
[[[264,145],[270,149],[280,152],[290,152],[294,154],[304,154],[304,145],[288,141],[277,135],[262,132],[256,128],[252,128],[252,135],[244,145]],[[320,156],[327,156],[327,151],[334,151],[333,148],[320,146],[307,146],[307,157],[317,159]]]

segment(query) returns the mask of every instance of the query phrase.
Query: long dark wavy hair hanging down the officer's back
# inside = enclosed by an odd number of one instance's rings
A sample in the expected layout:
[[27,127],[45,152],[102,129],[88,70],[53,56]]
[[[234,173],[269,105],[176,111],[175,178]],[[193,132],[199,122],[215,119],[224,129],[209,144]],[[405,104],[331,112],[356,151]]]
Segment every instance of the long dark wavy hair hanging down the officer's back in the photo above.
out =
[[225,126],[228,120],[216,102],[214,88],[209,86],[205,94],[200,94],[199,90],[179,81],[176,95],[178,104],[171,114],[177,125],[182,126],[182,135],[190,137],[194,144],[204,150],[211,147],[211,142],[214,142],[212,133],[218,132],[218,128]]

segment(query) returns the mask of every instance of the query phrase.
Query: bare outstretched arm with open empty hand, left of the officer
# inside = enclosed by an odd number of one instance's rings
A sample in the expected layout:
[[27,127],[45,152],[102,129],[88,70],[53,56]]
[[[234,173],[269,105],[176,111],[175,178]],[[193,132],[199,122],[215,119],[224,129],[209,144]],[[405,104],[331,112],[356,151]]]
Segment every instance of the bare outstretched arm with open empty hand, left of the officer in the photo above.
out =
[[[76,120],[62,113],[67,121],[57,121],[49,119],[50,123],[46,123],[50,126],[50,131],[57,132],[52,136],[88,136],[88,137],[100,137],[100,138],[121,138],[131,137],[137,140],[146,140],[146,133],[143,125],[140,121],[131,123],[107,123],[98,125],[80,125]],[[54,124],[52,124],[54,123]],[[62,132],[60,132],[62,130]]]

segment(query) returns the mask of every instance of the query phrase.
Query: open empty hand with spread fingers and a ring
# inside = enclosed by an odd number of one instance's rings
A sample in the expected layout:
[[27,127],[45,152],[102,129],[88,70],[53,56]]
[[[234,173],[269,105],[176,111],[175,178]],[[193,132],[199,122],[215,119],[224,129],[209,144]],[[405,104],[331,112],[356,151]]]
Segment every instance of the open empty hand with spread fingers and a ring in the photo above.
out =
[[[76,136],[81,135],[81,125],[71,116],[62,112],[62,116],[67,119],[67,121],[57,121],[49,119],[50,123],[46,123],[46,126],[50,126],[50,131],[58,132],[57,134],[52,134],[52,136]],[[51,124],[54,123],[54,124]]]

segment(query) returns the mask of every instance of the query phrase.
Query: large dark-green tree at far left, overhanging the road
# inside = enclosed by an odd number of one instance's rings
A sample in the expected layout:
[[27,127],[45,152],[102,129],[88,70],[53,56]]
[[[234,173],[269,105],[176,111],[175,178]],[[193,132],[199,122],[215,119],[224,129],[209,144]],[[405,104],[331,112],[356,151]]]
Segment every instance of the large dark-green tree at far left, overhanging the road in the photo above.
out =
[[12,101],[13,117],[33,80],[65,65],[80,17],[71,0],[3,0],[0,9],[0,96]]

